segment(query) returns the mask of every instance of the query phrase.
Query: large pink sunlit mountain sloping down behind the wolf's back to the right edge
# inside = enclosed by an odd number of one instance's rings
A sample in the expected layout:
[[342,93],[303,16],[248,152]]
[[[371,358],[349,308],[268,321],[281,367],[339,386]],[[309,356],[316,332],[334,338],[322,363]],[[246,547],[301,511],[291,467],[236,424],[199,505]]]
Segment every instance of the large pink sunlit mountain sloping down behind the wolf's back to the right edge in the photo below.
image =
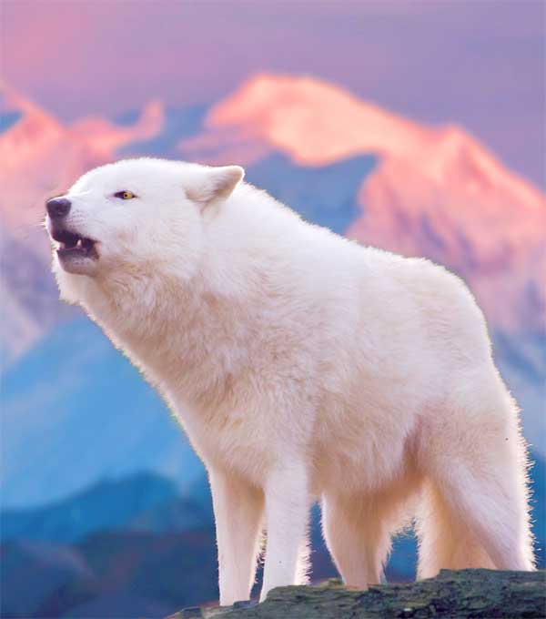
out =
[[[467,279],[496,327],[543,330],[546,200],[460,127],[422,127],[310,77],[254,76],[181,153],[252,166],[373,156],[351,238],[428,256]],[[500,303],[499,299],[510,299]]]

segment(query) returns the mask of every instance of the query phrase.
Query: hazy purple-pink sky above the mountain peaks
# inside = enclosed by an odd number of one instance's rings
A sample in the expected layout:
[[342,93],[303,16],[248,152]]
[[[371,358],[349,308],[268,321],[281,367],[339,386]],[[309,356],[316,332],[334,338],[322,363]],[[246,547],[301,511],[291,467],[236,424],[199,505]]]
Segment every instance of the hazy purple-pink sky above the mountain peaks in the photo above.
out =
[[467,128],[546,187],[542,0],[4,0],[2,74],[62,120],[310,75]]

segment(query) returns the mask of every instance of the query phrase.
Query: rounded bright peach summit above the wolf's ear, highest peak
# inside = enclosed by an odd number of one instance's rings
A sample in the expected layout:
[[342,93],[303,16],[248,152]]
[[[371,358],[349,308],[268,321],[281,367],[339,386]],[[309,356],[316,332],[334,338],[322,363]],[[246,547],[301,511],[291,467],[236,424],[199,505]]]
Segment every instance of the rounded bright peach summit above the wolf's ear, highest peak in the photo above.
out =
[[295,162],[328,165],[362,152],[405,152],[428,132],[346,90],[311,77],[258,75],[213,107],[207,134],[185,146],[257,141],[286,152]]

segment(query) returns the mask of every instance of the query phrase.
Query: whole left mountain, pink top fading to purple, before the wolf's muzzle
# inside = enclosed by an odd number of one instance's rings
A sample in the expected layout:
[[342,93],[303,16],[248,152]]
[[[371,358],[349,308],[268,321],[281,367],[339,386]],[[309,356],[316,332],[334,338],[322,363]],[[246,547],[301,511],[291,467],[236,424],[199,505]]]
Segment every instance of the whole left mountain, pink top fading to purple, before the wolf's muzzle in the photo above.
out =
[[111,161],[127,142],[156,134],[163,110],[152,102],[126,127],[99,118],[65,127],[7,85],[0,87],[0,109],[0,291],[5,299],[0,355],[7,365],[76,315],[58,302],[50,273],[50,247],[41,227],[45,199],[66,191],[87,169]]

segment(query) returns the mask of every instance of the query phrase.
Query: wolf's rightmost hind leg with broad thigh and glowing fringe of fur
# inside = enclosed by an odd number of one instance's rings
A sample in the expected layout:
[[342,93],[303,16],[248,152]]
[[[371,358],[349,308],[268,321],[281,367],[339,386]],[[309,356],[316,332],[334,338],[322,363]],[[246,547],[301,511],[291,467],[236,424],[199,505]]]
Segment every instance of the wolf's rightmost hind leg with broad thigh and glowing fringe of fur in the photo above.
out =
[[420,578],[441,568],[534,567],[525,446],[515,404],[499,383],[496,391],[484,387],[464,413],[443,414],[440,437],[424,441]]

